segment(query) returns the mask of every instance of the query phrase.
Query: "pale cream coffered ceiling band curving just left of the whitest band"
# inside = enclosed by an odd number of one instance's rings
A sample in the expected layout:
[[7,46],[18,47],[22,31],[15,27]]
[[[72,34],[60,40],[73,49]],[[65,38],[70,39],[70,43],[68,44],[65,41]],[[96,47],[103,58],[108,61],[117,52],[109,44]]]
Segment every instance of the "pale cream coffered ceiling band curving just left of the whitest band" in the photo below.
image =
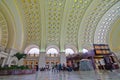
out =
[[103,15],[119,0],[94,0],[83,17],[79,30],[79,47],[87,43],[94,43],[96,27]]

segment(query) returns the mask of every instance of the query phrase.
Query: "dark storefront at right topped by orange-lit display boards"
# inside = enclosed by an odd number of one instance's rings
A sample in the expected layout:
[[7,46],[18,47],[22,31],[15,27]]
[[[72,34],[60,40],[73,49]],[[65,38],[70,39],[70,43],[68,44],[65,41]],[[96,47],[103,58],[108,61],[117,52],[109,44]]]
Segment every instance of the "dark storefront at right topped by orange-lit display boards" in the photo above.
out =
[[117,60],[107,44],[93,44],[93,46],[95,66],[97,69],[108,70],[110,67],[112,69],[119,68]]

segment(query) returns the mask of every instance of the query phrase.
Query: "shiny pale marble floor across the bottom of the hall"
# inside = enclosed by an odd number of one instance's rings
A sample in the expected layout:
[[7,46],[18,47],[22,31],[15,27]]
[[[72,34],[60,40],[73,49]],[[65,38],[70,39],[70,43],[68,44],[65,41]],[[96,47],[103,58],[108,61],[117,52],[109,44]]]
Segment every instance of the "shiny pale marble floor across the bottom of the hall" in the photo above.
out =
[[120,80],[120,70],[110,71],[38,71],[29,75],[0,76],[0,80]]

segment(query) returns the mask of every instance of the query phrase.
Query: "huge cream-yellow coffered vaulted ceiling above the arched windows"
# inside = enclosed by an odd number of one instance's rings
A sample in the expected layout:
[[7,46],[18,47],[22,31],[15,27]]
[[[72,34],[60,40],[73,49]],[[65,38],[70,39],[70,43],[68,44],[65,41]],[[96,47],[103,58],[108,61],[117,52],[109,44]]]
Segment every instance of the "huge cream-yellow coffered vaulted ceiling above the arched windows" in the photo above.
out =
[[0,0],[0,45],[78,51],[93,43],[120,51],[119,0]]

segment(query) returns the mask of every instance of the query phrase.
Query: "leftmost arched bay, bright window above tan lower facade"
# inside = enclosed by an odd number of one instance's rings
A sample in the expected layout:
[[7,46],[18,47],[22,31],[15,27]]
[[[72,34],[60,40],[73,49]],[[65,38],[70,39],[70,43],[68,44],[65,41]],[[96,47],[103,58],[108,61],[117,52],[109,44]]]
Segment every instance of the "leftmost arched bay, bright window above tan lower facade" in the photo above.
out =
[[31,69],[35,69],[38,66],[39,61],[39,47],[36,45],[30,45],[25,49],[27,57],[24,59],[24,65]]

